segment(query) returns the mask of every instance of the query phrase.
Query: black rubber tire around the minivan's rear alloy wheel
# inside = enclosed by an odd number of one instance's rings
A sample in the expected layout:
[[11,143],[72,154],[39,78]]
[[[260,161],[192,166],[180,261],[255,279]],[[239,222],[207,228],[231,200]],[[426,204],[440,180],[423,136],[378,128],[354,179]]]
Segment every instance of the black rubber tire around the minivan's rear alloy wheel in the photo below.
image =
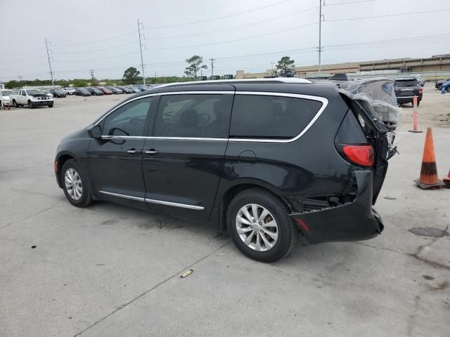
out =
[[[274,246],[267,251],[256,251],[247,246],[243,242],[243,239],[239,237],[236,228],[236,216],[239,210],[248,204],[257,204],[264,207],[264,209],[273,215],[274,220],[276,220],[278,239]],[[297,240],[298,230],[293,220],[289,218],[288,213],[289,210],[285,204],[278,197],[274,196],[274,194],[271,194],[271,192],[261,188],[245,190],[236,195],[229,204],[226,213],[229,235],[233,239],[236,247],[249,258],[267,263],[280,260],[290,253]]]

